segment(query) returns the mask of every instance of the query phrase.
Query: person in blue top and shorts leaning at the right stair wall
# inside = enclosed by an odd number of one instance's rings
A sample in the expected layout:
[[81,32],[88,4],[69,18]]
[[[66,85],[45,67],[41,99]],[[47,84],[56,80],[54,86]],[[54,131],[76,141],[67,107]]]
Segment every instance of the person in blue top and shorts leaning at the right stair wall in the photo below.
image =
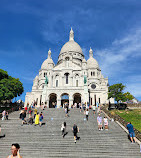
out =
[[131,143],[136,142],[134,127],[131,124],[131,122],[127,123],[127,129],[128,129],[128,132],[129,132]]

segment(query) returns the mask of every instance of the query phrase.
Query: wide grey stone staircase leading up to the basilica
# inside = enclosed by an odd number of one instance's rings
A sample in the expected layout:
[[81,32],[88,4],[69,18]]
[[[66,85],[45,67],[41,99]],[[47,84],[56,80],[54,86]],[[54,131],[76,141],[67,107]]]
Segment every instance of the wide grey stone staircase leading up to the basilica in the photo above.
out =
[[[97,157],[97,158],[139,158],[138,144],[131,144],[127,134],[115,123],[109,122],[109,131],[98,131],[96,117],[90,110],[89,121],[79,109],[71,109],[70,117],[65,117],[64,109],[45,109],[45,125],[21,126],[19,111],[9,115],[9,120],[1,121],[0,158],[10,155],[11,144],[19,143],[23,158],[50,157]],[[66,121],[68,134],[61,135],[61,124]],[[80,129],[81,140],[74,143],[72,126],[76,123]]]

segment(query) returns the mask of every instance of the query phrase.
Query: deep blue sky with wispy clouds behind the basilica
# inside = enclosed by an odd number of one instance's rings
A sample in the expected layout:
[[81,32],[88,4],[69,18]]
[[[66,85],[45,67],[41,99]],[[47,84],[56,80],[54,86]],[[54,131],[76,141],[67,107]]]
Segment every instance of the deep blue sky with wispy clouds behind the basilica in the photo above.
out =
[[51,48],[57,63],[70,28],[85,58],[94,51],[109,84],[123,83],[141,100],[141,1],[0,0],[0,68],[25,92]]

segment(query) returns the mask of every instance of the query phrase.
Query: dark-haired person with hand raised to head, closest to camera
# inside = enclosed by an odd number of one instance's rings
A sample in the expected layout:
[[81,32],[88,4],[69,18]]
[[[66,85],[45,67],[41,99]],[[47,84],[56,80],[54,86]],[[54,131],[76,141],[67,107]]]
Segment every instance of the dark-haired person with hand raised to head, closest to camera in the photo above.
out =
[[20,156],[20,145],[18,143],[12,144],[11,152],[12,155],[9,155],[7,158],[22,158],[22,156]]

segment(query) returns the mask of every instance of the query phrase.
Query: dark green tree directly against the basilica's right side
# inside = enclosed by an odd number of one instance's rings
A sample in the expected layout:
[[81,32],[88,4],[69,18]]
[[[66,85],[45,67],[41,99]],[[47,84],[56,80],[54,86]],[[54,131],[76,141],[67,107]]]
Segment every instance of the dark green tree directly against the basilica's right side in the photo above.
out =
[[123,90],[125,89],[125,86],[122,83],[113,84],[108,88],[108,99],[109,98],[115,98],[117,102],[119,101],[125,101],[125,95],[123,94]]

